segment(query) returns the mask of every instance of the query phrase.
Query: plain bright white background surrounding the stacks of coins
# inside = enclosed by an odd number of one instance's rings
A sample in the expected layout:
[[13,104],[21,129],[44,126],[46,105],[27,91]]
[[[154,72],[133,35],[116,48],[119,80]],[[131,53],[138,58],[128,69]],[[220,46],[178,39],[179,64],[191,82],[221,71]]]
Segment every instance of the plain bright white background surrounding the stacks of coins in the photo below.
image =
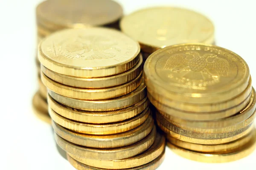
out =
[[[118,0],[129,14],[147,6],[172,5],[194,9],[215,25],[216,44],[236,52],[256,79],[256,1],[254,0]],[[38,89],[35,66],[35,7],[41,0],[0,0],[0,169],[73,170],[55,146],[52,129],[32,112]],[[253,81],[255,85],[256,81]],[[166,148],[159,170],[255,169],[256,151],[225,164],[183,159]]]

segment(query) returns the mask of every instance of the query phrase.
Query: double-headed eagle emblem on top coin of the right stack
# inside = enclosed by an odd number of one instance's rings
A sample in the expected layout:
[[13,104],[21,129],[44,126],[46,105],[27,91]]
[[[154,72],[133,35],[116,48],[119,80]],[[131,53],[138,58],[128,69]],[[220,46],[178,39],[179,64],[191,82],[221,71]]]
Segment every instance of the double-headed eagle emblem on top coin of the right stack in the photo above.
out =
[[196,51],[185,54],[174,54],[166,61],[165,70],[180,73],[187,71],[184,77],[194,80],[205,80],[212,77],[227,77],[230,65],[226,59],[214,54],[200,55]]

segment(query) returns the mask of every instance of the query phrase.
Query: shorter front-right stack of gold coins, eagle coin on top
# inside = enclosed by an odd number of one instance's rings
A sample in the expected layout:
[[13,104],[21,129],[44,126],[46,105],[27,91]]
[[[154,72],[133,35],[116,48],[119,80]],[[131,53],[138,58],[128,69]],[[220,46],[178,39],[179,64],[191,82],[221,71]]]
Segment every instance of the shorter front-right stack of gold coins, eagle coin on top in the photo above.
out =
[[254,150],[256,95],[237,54],[210,45],[173,45],[148,57],[144,77],[157,125],[175,153],[221,163]]

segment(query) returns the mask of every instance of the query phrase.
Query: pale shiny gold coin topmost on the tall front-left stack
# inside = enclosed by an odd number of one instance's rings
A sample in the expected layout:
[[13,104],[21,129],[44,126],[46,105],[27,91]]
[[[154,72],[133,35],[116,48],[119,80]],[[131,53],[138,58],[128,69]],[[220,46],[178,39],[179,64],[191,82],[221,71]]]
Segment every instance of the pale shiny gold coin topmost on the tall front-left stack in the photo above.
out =
[[58,31],[42,40],[38,56],[49,70],[73,77],[107,77],[133,68],[140,46],[109,28]]

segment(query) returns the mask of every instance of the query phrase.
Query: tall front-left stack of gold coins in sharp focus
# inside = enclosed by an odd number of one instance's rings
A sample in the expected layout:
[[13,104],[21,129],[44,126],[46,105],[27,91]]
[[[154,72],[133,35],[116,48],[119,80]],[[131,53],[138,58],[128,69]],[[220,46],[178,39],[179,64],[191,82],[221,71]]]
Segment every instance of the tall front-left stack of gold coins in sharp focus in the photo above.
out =
[[56,142],[76,169],[160,165],[165,138],[150,114],[137,42],[108,28],[68,29],[44,39],[38,56]]

